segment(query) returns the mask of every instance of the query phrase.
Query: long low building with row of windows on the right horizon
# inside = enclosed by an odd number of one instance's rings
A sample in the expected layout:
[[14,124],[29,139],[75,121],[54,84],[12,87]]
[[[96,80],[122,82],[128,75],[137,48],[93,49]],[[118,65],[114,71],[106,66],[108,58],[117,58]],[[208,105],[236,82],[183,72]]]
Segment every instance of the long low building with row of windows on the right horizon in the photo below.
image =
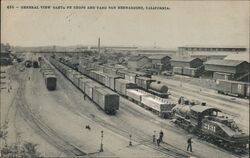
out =
[[217,46],[183,46],[178,47],[178,55],[186,57],[196,57],[203,61],[213,59],[223,59],[228,54],[246,52],[244,47],[217,47]]

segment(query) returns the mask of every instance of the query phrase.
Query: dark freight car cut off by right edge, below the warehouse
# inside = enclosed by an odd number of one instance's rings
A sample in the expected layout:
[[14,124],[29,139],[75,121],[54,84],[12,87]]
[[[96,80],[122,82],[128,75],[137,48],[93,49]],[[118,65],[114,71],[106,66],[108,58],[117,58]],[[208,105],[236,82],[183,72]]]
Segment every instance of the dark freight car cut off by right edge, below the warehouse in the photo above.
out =
[[217,80],[218,93],[249,98],[249,83],[230,80]]

